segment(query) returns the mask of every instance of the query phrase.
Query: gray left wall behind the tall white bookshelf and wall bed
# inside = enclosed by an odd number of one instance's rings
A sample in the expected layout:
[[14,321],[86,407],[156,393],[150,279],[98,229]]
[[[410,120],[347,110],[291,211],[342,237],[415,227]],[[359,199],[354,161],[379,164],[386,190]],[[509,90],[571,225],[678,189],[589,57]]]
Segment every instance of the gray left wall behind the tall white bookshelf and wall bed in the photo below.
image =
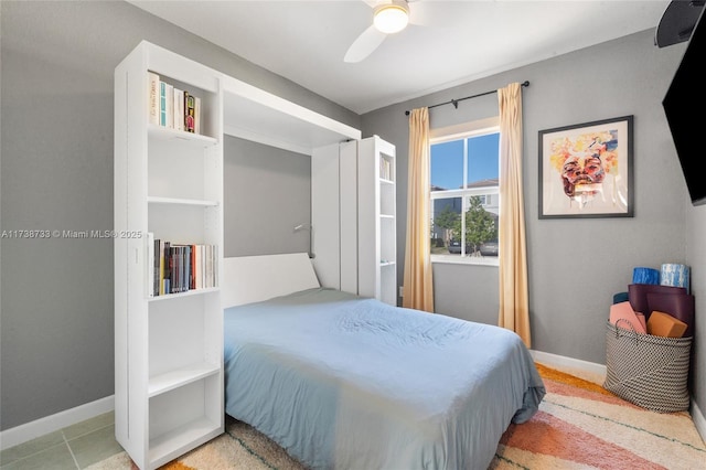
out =
[[[141,40],[360,127],[354,113],[127,2],[0,8],[4,231],[113,228],[113,75]],[[301,174],[290,183],[300,192],[310,177],[297,159],[284,164]],[[309,201],[293,201],[307,222]],[[267,234],[272,221],[249,224]],[[113,395],[113,242],[2,238],[0,249],[0,429]]]

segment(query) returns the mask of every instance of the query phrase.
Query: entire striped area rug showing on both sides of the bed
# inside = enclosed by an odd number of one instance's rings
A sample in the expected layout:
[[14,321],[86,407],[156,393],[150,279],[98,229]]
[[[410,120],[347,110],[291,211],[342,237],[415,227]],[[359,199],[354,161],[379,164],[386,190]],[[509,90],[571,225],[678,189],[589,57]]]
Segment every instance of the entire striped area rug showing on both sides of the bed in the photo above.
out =
[[[542,364],[537,368],[547,395],[530,421],[510,425],[490,469],[706,468],[706,446],[688,413],[650,412],[618,398],[600,384]],[[90,467],[90,470],[118,469],[135,469],[125,452]],[[303,470],[303,467],[250,426],[228,419],[224,435],[161,468],[240,469]]]

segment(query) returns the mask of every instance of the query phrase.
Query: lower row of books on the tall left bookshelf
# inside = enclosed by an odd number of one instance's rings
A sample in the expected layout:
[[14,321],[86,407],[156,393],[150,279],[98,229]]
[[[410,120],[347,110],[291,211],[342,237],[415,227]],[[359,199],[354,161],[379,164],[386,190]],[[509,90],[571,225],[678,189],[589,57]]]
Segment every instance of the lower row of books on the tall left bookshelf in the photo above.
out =
[[148,234],[149,297],[206,289],[218,285],[216,245],[176,244]]

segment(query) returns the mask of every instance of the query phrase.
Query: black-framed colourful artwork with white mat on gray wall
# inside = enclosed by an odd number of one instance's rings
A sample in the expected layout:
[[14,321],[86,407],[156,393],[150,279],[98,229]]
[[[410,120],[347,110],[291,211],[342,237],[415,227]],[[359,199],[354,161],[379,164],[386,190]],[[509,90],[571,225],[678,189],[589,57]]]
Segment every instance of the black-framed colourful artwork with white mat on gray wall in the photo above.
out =
[[539,131],[539,218],[633,216],[632,120]]

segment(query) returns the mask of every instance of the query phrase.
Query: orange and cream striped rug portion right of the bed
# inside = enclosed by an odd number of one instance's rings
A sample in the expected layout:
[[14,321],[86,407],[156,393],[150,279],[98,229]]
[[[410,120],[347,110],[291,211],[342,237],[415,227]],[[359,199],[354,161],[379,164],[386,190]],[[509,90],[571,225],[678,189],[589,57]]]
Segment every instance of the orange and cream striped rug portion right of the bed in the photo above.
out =
[[491,469],[706,469],[688,413],[650,412],[592,382],[537,368],[547,395],[530,421],[510,425]]

